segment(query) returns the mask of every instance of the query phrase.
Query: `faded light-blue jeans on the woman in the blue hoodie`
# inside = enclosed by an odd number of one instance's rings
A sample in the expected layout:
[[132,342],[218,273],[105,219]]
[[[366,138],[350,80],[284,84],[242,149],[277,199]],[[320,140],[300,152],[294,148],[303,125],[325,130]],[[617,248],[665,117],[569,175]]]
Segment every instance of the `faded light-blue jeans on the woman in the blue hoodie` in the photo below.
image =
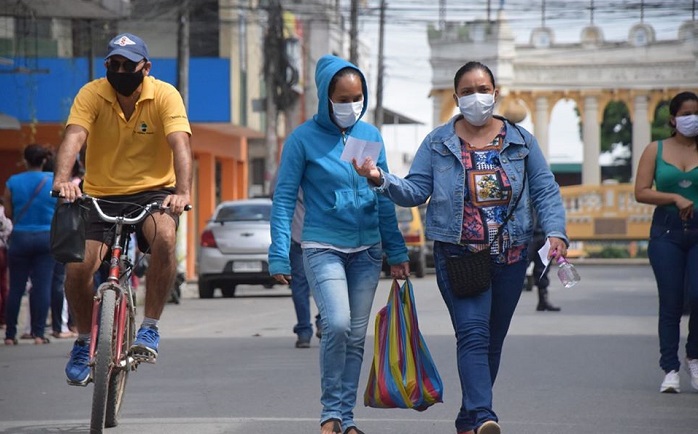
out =
[[320,423],[336,418],[345,430],[356,425],[356,391],[382,254],[380,244],[355,253],[303,250],[305,271],[322,327]]

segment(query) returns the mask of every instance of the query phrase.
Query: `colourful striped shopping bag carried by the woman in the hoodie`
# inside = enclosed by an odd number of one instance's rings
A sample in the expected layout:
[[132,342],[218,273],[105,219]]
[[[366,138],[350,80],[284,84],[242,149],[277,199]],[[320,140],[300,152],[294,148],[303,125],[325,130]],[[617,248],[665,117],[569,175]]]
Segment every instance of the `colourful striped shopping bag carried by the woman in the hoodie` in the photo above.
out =
[[424,411],[442,398],[441,377],[419,332],[412,283],[393,280],[388,304],[376,315],[364,405]]

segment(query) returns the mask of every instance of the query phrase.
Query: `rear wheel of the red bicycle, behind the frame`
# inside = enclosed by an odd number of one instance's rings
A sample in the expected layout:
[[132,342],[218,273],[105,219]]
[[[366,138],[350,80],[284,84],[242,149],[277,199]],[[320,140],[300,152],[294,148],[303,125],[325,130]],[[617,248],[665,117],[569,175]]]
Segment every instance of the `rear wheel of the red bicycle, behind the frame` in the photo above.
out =
[[[123,295],[126,300],[126,293]],[[134,316],[134,311],[131,309],[132,300],[126,300],[122,305],[122,308],[126,310],[126,323],[124,324],[124,331],[122,336],[121,348],[114,348],[114,354],[121,354],[121,359],[119,362],[122,364],[118,367],[112,369],[111,375],[109,377],[109,392],[107,394],[107,410],[105,414],[104,426],[106,428],[112,428],[118,425],[119,412],[121,411],[121,405],[124,400],[124,393],[126,391],[126,381],[128,380],[128,375],[131,372],[131,365],[126,363],[128,359],[128,350],[133,345],[133,340],[136,337],[136,318]],[[115,330],[116,333],[116,330]],[[116,339],[114,343],[116,345]]]

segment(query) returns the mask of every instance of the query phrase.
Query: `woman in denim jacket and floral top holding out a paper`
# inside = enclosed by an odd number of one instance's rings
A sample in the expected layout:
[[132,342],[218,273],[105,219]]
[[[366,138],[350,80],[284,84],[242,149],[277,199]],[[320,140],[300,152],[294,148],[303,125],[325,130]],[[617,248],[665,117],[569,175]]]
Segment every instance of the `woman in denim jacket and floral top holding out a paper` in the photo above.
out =
[[[462,402],[456,429],[459,434],[498,434],[492,386],[522,291],[533,209],[550,242],[551,258],[566,255],[569,241],[559,186],[536,139],[492,115],[498,90],[489,68],[465,64],[455,75],[454,88],[461,114],[424,139],[404,179],[371,161],[354,166],[400,206],[420,205],[431,197],[426,236],[434,240],[436,280],[457,340]],[[456,297],[447,258],[472,255],[490,242],[489,288]]]

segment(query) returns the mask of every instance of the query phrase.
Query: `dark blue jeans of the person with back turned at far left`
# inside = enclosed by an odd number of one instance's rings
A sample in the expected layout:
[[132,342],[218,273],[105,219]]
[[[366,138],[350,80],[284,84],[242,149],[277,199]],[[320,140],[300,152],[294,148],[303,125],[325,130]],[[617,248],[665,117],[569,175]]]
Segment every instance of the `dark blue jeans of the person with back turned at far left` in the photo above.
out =
[[46,317],[51,304],[51,281],[56,261],[49,249],[49,232],[15,231],[10,235],[9,270],[10,294],[7,299],[7,329],[5,337],[17,336],[17,318],[26,290],[27,280],[31,279],[29,312],[31,333],[34,337],[44,337]]

